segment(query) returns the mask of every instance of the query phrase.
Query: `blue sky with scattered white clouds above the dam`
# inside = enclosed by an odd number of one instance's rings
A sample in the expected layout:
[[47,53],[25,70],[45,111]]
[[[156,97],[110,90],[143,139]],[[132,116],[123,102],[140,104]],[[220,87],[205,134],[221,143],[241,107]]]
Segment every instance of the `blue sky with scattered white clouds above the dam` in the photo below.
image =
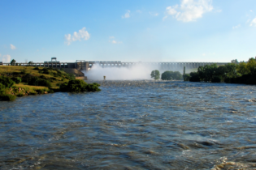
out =
[[255,56],[255,0],[0,1],[0,62],[240,62]]

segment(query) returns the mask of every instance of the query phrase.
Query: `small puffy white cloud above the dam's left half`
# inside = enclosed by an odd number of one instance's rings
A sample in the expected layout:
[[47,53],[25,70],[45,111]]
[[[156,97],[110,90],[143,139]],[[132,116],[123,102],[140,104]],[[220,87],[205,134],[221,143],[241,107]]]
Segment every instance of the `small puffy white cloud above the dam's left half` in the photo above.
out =
[[67,45],[71,45],[71,43],[76,40],[89,40],[89,33],[85,31],[85,29],[86,28],[82,28],[78,32],[74,32],[73,36],[71,34],[66,34],[65,39],[67,40]]

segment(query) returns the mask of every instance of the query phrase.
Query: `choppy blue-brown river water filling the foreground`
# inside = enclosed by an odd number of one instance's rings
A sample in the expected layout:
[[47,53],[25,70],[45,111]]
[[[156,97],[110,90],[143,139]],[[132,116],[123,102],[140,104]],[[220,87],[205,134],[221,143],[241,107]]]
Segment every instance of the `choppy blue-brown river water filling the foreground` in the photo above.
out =
[[256,169],[256,87],[98,81],[0,101],[0,169]]

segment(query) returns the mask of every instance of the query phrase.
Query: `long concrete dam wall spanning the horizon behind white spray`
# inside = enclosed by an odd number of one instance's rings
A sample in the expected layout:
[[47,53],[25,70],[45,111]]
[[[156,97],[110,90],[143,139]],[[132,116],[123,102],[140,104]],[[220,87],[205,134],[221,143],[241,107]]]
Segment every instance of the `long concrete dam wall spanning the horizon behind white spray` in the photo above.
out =
[[[43,66],[53,68],[67,68],[89,71],[93,66],[98,65],[102,68],[111,67],[126,67],[132,68],[133,66],[150,66],[159,70],[181,70],[185,66],[186,69],[196,69],[199,66],[206,66],[217,64],[217,66],[228,64],[229,62],[121,62],[121,61],[85,61],[76,60],[76,62],[33,62],[24,63],[16,62],[15,66]],[[0,63],[3,66],[10,66],[10,63]]]

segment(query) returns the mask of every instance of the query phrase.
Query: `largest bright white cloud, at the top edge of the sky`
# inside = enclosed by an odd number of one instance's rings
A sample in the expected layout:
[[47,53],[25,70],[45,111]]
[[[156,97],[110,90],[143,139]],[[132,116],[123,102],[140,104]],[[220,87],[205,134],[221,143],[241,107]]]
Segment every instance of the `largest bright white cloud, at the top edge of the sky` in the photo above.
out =
[[196,21],[206,12],[213,10],[211,0],[182,0],[180,6],[167,6],[167,15],[183,22]]

